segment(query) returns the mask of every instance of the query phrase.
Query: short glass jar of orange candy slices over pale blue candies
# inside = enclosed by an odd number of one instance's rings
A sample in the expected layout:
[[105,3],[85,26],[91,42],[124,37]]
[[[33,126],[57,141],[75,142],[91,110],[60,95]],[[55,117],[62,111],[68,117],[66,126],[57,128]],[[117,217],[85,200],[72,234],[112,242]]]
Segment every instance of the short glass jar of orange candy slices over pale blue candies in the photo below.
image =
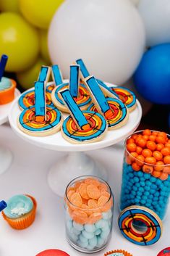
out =
[[65,192],[65,224],[69,244],[80,252],[98,252],[111,238],[114,199],[108,183],[82,176]]

